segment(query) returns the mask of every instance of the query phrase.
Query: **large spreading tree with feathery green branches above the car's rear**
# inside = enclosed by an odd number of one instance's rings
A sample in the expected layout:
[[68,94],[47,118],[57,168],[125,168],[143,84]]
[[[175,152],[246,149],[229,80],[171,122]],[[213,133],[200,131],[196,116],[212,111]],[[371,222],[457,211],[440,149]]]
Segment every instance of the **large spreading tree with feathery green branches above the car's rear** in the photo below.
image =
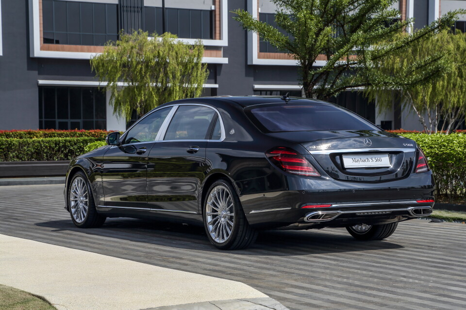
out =
[[[306,97],[326,100],[347,89],[397,89],[438,76],[446,70],[441,54],[416,60],[399,75],[377,71],[374,62],[403,53],[417,40],[448,28],[458,14],[466,13],[449,12],[421,30],[399,37],[413,19],[398,20],[399,11],[390,9],[395,0],[272,1],[278,8],[275,21],[287,34],[243,10],[234,11],[234,19],[297,60]],[[320,55],[325,55],[327,63],[316,67]]]

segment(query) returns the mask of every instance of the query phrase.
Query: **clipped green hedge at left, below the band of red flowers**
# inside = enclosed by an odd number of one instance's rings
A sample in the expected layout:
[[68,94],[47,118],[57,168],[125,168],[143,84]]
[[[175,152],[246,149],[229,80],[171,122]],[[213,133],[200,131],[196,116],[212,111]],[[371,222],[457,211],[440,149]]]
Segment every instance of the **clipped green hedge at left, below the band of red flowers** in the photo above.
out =
[[0,138],[0,161],[69,160],[81,155],[84,147],[100,138]]

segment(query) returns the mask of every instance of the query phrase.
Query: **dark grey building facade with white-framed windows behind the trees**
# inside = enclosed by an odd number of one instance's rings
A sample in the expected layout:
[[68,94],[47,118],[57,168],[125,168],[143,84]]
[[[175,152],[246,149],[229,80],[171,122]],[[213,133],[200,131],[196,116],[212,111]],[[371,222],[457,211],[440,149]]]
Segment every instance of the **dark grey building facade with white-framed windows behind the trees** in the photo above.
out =
[[[119,29],[202,40],[204,95],[300,95],[296,61],[244,31],[231,13],[238,8],[274,24],[270,0],[165,0],[165,16],[162,0],[0,0],[0,130],[125,130],[89,64]],[[395,8],[420,28],[466,8],[466,1],[401,0]],[[455,27],[466,31],[466,16]],[[414,115],[398,108],[378,113],[359,92],[343,92],[334,102],[384,129],[421,129]]]

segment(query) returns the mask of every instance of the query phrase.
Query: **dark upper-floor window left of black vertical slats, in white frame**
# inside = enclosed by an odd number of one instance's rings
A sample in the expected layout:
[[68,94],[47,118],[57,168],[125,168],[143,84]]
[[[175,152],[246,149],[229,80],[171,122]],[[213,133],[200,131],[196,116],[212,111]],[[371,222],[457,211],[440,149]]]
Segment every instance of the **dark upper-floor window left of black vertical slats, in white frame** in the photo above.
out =
[[101,46],[118,38],[116,4],[42,0],[44,44]]

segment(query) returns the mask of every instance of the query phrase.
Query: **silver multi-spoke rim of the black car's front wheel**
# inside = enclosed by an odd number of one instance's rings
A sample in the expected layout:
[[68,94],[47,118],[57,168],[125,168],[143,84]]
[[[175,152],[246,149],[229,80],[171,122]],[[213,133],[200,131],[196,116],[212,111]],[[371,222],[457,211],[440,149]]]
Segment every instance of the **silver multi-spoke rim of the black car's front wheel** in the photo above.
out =
[[77,223],[82,223],[89,209],[89,192],[86,181],[81,176],[74,178],[69,190],[69,208]]

